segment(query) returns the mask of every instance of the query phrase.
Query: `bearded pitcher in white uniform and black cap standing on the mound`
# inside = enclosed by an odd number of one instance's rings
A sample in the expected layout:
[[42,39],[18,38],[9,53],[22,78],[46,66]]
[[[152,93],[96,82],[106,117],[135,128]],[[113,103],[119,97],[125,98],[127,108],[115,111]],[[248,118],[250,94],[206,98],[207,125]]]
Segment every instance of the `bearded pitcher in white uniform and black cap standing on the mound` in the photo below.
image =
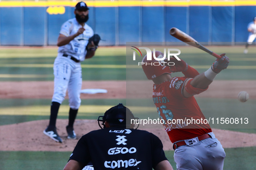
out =
[[[86,3],[79,2],[75,6],[75,18],[65,22],[58,37],[58,56],[55,59],[54,94],[52,96],[51,115],[48,127],[43,131],[56,142],[62,143],[56,130],[58,110],[68,90],[69,117],[66,130],[68,139],[76,139],[74,122],[81,104],[80,90],[82,86],[81,61],[94,56],[95,50],[86,50],[88,39],[94,35],[92,28],[86,24],[89,8]],[[92,46],[94,44],[92,43]]]

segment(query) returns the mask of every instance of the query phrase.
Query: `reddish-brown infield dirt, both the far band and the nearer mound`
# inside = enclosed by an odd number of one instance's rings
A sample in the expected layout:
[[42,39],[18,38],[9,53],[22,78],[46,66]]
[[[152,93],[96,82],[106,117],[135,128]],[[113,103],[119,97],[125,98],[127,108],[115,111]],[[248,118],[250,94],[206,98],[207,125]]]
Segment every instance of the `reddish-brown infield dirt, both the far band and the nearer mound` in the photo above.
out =
[[[145,82],[133,82],[133,85],[138,88],[131,91],[129,95],[134,94],[138,98],[151,98],[151,93],[143,91],[152,91],[152,85],[149,84],[149,86],[145,87],[141,83],[144,84]],[[230,84],[232,84],[232,87],[230,87]],[[256,81],[216,80],[206,92],[199,94],[198,97],[237,98],[237,94],[246,89],[250,94],[250,99],[255,99],[255,85]],[[0,87],[0,98],[52,98],[53,93],[53,82],[0,82]],[[82,88],[104,88],[108,91],[106,94],[81,94],[82,99],[126,98],[126,81],[85,81]],[[43,134],[48,122],[49,120],[37,120],[0,126],[0,151],[72,151],[82,135],[91,130],[99,129],[96,120],[76,120],[74,126],[78,139],[70,140],[66,138],[67,134],[65,132],[68,120],[58,119],[58,133],[63,139],[61,144],[54,142]],[[163,128],[146,130],[159,136],[163,142],[164,150],[172,150],[172,143]],[[213,129],[213,132],[224,148],[256,146],[256,134],[221,129]]]

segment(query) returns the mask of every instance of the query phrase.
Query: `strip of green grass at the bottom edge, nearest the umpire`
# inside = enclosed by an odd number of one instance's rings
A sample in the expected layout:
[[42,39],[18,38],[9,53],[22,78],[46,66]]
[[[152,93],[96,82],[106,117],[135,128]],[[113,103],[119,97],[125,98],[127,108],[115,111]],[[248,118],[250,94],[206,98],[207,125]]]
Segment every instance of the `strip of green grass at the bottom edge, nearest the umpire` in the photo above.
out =
[[[255,170],[256,147],[225,149],[224,170]],[[172,167],[174,151],[165,151]],[[71,152],[0,151],[1,170],[62,170]]]

